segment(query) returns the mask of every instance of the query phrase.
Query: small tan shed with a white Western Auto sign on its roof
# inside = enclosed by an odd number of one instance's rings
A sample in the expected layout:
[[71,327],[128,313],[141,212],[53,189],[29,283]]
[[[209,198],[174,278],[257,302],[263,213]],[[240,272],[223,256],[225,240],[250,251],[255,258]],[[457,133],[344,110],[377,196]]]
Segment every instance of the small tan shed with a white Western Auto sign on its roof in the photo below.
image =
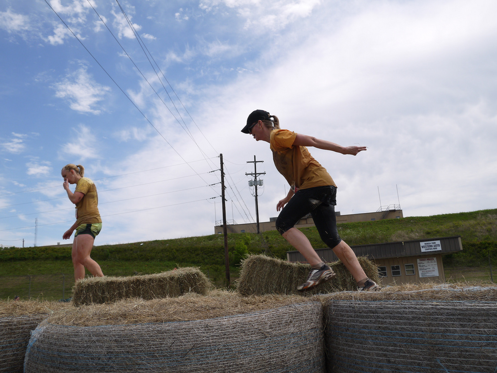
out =
[[[462,251],[461,236],[425,238],[413,241],[351,246],[378,266],[383,285],[419,282],[445,282],[442,256]],[[330,248],[316,249],[325,262],[338,260]],[[288,251],[289,262],[303,262],[298,251]]]

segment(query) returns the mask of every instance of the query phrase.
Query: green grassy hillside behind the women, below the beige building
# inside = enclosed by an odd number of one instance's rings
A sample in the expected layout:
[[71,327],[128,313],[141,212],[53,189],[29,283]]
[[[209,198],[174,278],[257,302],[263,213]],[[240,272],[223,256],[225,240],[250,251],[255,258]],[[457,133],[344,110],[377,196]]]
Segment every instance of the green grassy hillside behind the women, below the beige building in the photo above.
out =
[[[302,231],[315,248],[324,247],[316,228]],[[497,209],[343,223],[338,225],[338,232],[351,246],[461,236],[463,251],[445,256],[445,268],[488,266],[489,257],[497,268]],[[240,261],[248,253],[285,259],[286,252],[293,250],[276,231],[230,234],[228,248],[232,280],[238,277]],[[151,274],[192,266],[199,267],[216,286],[225,286],[222,235],[95,246],[92,258],[108,276]],[[14,294],[27,297],[28,291],[31,296],[41,293],[45,298],[60,298],[61,287],[69,294],[74,283],[71,248],[4,248],[0,251],[0,282],[3,299]],[[52,295],[54,292],[57,295]]]

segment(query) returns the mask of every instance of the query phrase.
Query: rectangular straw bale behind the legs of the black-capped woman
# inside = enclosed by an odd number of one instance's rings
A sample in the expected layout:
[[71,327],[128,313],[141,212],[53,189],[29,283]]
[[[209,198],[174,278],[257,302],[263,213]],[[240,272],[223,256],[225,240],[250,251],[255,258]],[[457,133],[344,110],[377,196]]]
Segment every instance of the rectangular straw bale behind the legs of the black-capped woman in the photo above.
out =
[[[359,264],[366,276],[378,282],[378,269],[367,258],[359,257]],[[264,255],[252,255],[242,263],[238,291],[243,295],[261,294],[322,294],[335,291],[356,289],[356,282],[345,266],[340,262],[328,263],[336,277],[302,293],[297,286],[307,280],[311,266],[302,263],[290,263]]]

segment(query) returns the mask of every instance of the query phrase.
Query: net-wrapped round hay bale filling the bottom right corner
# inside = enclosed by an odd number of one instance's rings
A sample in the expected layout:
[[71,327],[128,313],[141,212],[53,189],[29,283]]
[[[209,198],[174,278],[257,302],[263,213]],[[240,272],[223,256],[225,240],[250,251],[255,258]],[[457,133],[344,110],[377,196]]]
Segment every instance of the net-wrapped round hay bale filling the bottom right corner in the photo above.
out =
[[496,372],[495,302],[326,304],[328,372]]

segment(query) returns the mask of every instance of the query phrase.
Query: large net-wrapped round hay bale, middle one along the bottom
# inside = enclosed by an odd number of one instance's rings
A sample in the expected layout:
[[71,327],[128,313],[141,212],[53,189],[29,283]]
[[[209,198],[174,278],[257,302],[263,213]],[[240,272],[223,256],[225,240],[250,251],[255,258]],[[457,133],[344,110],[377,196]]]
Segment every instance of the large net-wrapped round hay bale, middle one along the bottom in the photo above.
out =
[[24,372],[324,372],[322,307],[130,325],[47,319],[32,334]]

